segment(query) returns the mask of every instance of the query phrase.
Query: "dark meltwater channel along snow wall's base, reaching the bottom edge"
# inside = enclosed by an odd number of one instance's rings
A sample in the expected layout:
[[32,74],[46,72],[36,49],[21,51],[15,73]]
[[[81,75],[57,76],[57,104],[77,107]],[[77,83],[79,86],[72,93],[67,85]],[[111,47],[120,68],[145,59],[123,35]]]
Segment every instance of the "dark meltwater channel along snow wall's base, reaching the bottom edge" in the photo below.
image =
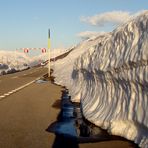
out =
[[47,131],[56,135],[53,148],[73,147],[79,143],[92,143],[106,140],[125,140],[111,136],[107,131],[88,122],[82,114],[80,103],[72,103],[68,90],[62,92],[61,112],[57,121],[49,125]]

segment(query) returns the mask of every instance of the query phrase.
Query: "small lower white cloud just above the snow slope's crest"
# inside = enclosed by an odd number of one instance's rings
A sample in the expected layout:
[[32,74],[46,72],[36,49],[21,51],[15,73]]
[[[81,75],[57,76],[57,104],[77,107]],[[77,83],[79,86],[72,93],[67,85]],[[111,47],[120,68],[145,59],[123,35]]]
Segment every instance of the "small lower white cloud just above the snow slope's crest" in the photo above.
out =
[[82,39],[89,39],[92,37],[96,37],[99,35],[104,34],[105,32],[94,32],[94,31],[85,31],[85,32],[80,32],[77,34],[78,37],[82,38]]

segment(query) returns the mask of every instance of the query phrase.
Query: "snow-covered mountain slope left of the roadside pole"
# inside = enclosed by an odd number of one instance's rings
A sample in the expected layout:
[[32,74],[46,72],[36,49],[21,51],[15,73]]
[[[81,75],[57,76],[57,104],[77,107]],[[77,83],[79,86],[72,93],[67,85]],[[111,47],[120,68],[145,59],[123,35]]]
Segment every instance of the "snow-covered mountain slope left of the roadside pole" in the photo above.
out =
[[0,51],[0,75],[27,69],[38,65],[45,59],[47,59],[47,54],[29,57],[21,52]]

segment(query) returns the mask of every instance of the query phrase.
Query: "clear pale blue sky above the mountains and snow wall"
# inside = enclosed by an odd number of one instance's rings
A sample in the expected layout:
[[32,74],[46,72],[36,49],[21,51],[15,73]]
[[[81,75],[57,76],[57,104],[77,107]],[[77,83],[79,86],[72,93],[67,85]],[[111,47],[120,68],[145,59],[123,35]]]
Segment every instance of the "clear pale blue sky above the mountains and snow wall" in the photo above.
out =
[[110,23],[93,25],[93,16],[147,9],[147,0],[1,0],[0,50],[47,47],[49,28],[51,48],[67,48],[81,40],[82,32],[113,29]]

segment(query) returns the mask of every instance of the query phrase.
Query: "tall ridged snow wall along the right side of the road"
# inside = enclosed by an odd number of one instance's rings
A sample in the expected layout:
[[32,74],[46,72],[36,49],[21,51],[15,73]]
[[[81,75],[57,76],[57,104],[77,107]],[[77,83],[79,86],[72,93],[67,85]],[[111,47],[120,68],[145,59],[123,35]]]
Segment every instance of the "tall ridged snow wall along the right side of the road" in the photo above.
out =
[[86,119],[148,147],[148,11],[81,42],[54,64],[54,76]]

